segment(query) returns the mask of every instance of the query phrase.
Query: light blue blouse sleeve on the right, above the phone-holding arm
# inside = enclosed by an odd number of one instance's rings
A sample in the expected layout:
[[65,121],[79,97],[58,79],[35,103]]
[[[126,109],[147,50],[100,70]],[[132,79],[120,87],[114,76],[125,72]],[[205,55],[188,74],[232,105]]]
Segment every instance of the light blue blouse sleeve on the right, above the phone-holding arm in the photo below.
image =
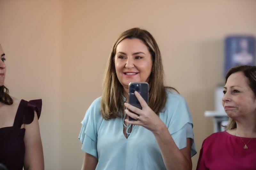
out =
[[176,92],[168,91],[168,99],[160,118],[165,122],[172,138],[179,149],[187,146],[191,138],[191,157],[196,154],[193,134],[193,122],[186,100]]

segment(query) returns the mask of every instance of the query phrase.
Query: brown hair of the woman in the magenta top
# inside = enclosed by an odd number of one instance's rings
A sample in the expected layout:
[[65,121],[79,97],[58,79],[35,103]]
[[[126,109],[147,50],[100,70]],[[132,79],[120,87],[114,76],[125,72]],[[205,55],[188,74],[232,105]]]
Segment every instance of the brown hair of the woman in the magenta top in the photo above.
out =
[[[228,70],[225,78],[225,84],[227,83],[228,77],[236,72],[241,71],[245,77],[248,78],[247,84],[252,89],[254,94],[254,100],[256,100],[256,66],[250,65],[240,65],[232,67]],[[236,121],[232,118],[229,118],[228,125],[224,126],[226,130],[231,130],[236,128]]]

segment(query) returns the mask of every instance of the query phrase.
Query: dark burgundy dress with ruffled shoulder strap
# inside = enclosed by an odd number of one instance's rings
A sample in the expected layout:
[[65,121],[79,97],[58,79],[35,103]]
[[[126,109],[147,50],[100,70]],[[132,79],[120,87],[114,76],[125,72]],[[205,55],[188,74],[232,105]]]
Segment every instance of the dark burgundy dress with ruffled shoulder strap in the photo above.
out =
[[0,163],[9,170],[22,170],[24,162],[25,128],[20,129],[23,123],[30,124],[34,120],[34,110],[39,119],[42,109],[42,100],[21,100],[13,126],[0,128]]

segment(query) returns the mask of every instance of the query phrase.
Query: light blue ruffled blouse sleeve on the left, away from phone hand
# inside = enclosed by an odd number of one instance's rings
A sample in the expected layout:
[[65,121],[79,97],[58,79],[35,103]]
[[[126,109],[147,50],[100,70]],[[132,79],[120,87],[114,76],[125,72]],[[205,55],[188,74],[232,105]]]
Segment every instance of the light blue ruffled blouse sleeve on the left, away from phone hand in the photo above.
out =
[[98,159],[97,136],[103,118],[100,114],[100,98],[93,101],[85,113],[81,122],[82,128],[79,139],[82,143],[82,150]]

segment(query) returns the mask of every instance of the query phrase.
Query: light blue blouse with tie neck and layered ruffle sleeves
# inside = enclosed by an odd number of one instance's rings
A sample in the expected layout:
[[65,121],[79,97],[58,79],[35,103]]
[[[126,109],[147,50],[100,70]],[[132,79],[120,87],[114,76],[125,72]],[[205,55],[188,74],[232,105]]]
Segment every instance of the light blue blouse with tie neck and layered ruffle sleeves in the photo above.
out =
[[[191,156],[196,154],[192,118],[185,99],[167,91],[168,98],[159,117],[167,126],[179,149],[191,138]],[[163,170],[164,161],[153,133],[135,125],[128,138],[123,133],[123,118],[103,119],[100,100],[94,100],[86,111],[79,134],[82,150],[98,159],[96,170]]]

